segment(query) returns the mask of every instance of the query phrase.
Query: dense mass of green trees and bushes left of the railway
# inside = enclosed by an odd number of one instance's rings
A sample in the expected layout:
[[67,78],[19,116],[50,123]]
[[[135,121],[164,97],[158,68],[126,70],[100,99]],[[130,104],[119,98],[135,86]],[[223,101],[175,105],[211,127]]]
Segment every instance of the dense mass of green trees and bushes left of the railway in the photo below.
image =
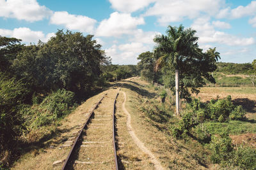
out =
[[111,65],[93,35],[59,30],[47,43],[22,45],[20,41],[0,36],[0,159],[4,166],[19,157],[22,135],[56,124],[108,81],[137,73],[136,66]]

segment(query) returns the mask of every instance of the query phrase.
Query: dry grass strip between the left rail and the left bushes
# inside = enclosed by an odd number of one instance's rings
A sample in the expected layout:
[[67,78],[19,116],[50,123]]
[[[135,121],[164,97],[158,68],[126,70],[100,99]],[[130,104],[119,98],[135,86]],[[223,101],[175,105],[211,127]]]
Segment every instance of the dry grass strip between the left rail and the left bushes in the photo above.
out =
[[[31,143],[29,146],[29,148],[31,148],[30,152],[22,155],[22,157],[13,164],[12,169],[61,169],[61,165],[53,167],[52,163],[67,157],[70,147],[63,148],[64,142],[67,141],[68,138],[76,136],[76,134],[73,133],[79,131],[79,127],[81,127],[88,118],[88,112],[92,110],[94,104],[97,103],[102,96],[103,92],[81,104],[73,113],[61,121],[62,125],[57,127],[52,138],[42,141],[40,146],[38,146],[38,143]],[[46,127],[43,130],[45,132],[52,131],[51,127]]]

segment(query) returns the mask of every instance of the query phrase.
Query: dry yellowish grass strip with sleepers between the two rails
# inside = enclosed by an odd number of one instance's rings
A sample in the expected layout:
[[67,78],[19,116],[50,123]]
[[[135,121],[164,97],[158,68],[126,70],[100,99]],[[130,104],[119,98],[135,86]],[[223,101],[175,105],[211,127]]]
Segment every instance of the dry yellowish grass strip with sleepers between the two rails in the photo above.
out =
[[111,115],[116,92],[117,90],[108,91],[107,96],[94,111],[95,117],[85,130],[84,142],[99,143],[81,143],[77,160],[92,164],[75,164],[74,169],[115,169]]

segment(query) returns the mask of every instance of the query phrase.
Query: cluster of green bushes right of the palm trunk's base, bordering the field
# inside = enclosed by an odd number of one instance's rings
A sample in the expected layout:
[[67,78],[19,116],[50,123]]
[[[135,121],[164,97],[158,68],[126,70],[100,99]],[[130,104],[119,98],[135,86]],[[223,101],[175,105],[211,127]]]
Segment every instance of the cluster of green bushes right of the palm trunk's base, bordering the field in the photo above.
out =
[[[225,99],[212,99],[210,103],[201,103],[200,99],[192,98],[179,124],[173,127],[173,136],[181,138],[184,134],[191,134],[193,127],[205,121],[226,122],[228,119],[241,120],[244,115],[245,111],[242,106],[234,106],[230,96]],[[200,134],[202,132],[199,129],[196,131],[196,136],[200,141],[210,141],[209,136],[211,134],[209,132],[203,135]]]

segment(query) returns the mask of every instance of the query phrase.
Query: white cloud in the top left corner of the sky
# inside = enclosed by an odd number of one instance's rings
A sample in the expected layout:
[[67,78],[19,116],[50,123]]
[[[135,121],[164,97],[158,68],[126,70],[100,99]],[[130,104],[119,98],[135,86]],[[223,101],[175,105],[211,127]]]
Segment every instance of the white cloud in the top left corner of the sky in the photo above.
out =
[[49,17],[52,11],[40,6],[36,0],[0,0],[0,17],[34,22]]

